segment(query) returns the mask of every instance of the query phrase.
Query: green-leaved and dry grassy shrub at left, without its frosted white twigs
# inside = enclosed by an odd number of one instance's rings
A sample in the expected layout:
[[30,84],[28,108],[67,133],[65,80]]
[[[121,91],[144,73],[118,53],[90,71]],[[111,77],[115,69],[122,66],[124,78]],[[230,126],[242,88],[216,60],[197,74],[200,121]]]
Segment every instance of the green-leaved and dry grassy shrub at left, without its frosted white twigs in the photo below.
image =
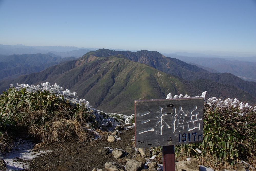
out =
[[72,137],[86,141],[92,136],[84,129],[88,122],[94,121],[91,111],[46,90],[29,92],[26,88],[10,88],[0,96],[0,111],[1,134],[25,133],[40,141]]

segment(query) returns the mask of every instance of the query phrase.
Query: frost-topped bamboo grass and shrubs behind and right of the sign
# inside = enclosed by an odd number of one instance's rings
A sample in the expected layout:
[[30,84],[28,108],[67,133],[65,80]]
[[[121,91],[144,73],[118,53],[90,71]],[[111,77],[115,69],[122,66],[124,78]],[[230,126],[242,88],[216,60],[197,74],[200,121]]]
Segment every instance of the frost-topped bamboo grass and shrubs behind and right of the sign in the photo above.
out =
[[[204,98],[203,142],[177,145],[177,160],[197,158],[201,165],[212,168],[225,163],[233,166],[240,161],[255,164],[256,106],[238,99],[206,99],[206,92],[200,97]],[[171,98],[171,94],[167,98]]]

